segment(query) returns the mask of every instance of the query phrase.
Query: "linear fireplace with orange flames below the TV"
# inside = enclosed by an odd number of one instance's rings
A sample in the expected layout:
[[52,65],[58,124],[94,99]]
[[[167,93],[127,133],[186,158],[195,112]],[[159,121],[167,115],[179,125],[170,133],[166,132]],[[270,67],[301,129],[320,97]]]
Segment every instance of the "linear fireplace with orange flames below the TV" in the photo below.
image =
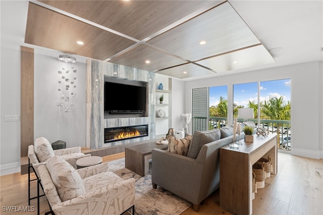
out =
[[136,125],[104,129],[104,143],[144,136],[148,136],[148,125]]

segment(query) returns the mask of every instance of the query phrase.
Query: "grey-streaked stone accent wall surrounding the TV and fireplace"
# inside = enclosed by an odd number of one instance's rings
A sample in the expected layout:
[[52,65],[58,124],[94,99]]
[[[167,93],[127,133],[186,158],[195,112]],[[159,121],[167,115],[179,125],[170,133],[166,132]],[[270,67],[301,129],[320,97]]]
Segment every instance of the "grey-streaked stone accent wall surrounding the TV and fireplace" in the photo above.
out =
[[[98,149],[155,138],[154,73],[93,59],[86,61],[86,67],[86,146]],[[148,117],[104,119],[104,76],[148,82]],[[143,124],[148,124],[146,137],[104,143],[104,128]]]

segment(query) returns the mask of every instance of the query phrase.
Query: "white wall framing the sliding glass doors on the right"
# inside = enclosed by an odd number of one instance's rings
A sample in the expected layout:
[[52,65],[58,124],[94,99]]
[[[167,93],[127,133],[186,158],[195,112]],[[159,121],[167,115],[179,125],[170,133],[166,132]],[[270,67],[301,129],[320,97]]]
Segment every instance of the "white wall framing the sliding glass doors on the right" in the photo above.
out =
[[188,81],[185,82],[185,111],[190,112],[192,88],[291,78],[291,153],[323,158],[322,71],[321,62],[311,62]]

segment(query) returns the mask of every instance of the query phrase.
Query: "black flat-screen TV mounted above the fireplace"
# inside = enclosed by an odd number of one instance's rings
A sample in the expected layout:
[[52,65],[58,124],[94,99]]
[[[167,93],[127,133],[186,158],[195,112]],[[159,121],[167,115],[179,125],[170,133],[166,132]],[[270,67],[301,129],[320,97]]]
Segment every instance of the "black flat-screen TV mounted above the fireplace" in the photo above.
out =
[[110,114],[143,113],[146,110],[146,88],[129,84],[104,83],[104,111]]

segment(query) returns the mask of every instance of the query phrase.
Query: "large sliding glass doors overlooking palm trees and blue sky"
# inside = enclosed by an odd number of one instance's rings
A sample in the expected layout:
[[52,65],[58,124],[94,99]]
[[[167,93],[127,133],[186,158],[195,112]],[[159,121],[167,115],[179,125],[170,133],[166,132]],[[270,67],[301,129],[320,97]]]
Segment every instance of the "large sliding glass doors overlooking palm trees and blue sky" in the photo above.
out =
[[[290,85],[291,79],[234,84],[232,95],[227,85],[192,89],[192,133],[227,126],[228,116],[238,117],[238,108],[252,108],[254,119],[248,120],[279,134],[280,148],[290,150]],[[228,113],[230,96],[233,113]]]

